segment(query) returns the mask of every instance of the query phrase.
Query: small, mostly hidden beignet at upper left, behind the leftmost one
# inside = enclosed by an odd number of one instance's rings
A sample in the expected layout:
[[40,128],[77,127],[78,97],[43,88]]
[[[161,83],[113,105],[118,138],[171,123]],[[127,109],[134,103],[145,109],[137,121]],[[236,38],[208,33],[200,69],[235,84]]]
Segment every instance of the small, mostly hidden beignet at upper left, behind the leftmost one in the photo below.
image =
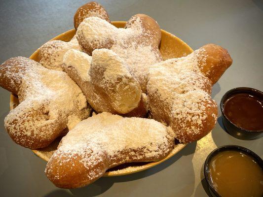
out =
[[39,63],[49,69],[62,70],[63,57],[70,49],[81,50],[75,36],[69,42],[48,41],[39,48]]

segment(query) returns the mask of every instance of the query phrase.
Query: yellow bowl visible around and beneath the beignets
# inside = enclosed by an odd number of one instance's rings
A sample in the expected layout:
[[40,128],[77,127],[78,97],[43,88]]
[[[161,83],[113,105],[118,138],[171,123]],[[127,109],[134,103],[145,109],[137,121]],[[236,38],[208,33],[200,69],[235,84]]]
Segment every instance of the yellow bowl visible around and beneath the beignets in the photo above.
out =
[[[126,24],[125,21],[113,21],[112,24],[117,28],[123,28]],[[164,30],[161,30],[162,38],[160,43],[160,52],[162,58],[164,60],[171,59],[171,58],[179,58],[183,56],[187,56],[193,50],[181,39],[176,37],[175,35],[168,33]],[[75,29],[70,30],[68,32],[62,33],[51,40],[63,40],[63,41],[70,41],[71,38],[75,35]],[[35,51],[31,56],[30,59],[39,61],[38,60],[38,53],[39,50]],[[10,96],[10,109],[13,109],[18,105],[19,101],[16,96]],[[41,159],[48,161],[49,158],[52,156],[53,152],[57,149],[58,143],[60,139],[56,139],[52,144],[50,144],[46,148],[32,150],[38,157]],[[120,176],[131,174],[135,172],[139,172],[145,169],[148,169],[154,165],[160,164],[165,160],[168,160],[180,150],[182,150],[186,144],[177,144],[175,145],[173,151],[163,160],[159,162],[151,162],[151,163],[131,163],[131,164],[124,164],[122,166],[115,167],[114,169],[110,169],[109,171],[105,172],[104,176]]]

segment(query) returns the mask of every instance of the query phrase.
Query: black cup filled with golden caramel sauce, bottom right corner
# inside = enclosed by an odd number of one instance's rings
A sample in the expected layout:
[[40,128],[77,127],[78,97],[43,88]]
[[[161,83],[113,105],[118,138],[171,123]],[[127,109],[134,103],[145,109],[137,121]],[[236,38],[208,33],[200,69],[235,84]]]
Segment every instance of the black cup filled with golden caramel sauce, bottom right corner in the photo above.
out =
[[263,197],[263,160],[247,148],[215,149],[205,161],[204,175],[213,197]]

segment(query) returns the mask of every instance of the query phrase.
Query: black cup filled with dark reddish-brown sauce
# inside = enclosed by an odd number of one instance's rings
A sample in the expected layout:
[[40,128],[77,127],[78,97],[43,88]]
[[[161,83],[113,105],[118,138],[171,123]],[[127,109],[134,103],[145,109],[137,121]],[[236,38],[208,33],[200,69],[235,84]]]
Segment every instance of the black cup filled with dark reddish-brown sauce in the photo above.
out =
[[226,131],[238,139],[255,139],[263,134],[263,92],[234,88],[225,93],[220,108]]

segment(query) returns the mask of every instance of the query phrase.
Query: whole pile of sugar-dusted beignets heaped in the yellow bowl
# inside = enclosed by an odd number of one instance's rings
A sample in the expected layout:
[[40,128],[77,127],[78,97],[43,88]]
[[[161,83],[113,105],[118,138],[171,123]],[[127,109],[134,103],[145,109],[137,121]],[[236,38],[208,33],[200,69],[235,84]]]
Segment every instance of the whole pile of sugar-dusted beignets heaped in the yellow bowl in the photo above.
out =
[[96,2],[77,9],[74,26],[71,41],[39,48],[39,63],[15,57],[0,66],[0,86],[19,99],[4,120],[13,141],[38,149],[65,135],[45,170],[57,187],[83,187],[120,164],[159,161],[176,141],[214,128],[212,86],[232,64],[224,48],[207,44],[164,61],[155,20],[136,14],[116,28]]

